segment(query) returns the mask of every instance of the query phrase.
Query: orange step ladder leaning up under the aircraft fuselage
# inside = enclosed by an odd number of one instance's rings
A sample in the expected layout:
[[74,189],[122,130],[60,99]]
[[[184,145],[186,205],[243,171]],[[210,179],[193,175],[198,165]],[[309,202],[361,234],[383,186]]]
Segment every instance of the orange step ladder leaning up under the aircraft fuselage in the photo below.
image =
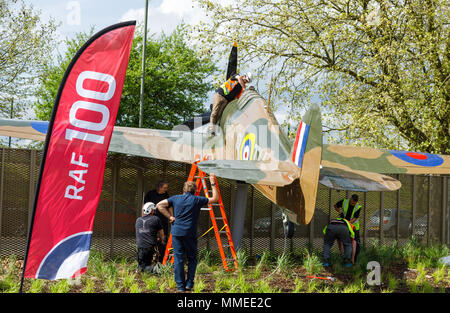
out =
[[[206,158],[204,160],[206,160]],[[201,191],[203,190],[205,197],[210,198],[210,195],[209,195],[210,190],[208,190],[208,188],[207,188],[206,179],[205,179],[206,173],[201,171],[198,168],[198,165],[197,165],[198,162],[200,162],[200,160],[197,160],[192,164],[191,171],[190,171],[189,177],[188,177],[188,181],[195,180],[196,185],[197,185],[197,191],[195,193],[196,196],[200,195]],[[197,170],[198,170],[198,175],[196,175]],[[215,237],[217,240],[217,245],[219,247],[220,257],[222,258],[223,268],[226,271],[233,271],[234,269],[236,269],[236,270],[238,269],[236,250],[234,249],[233,240],[231,238],[230,226],[228,224],[227,216],[226,216],[225,209],[223,206],[222,195],[220,194],[217,177],[215,177],[215,183],[216,183],[217,191],[219,193],[219,201],[217,203],[208,204],[208,208],[202,209],[202,210],[209,211],[209,216],[211,218],[211,222],[212,222],[213,226],[207,232],[209,232],[211,229],[214,229],[214,234],[215,234]],[[220,209],[220,215],[221,215],[220,217],[216,217],[216,215],[214,214],[214,208]],[[217,225],[217,220],[223,221],[223,226],[220,229],[219,229],[219,226]],[[203,235],[205,235],[205,234],[203,234]],[[221,235],[226,235],[226,239],[221,238]],[[222,243],[223,239],[226,240],[226,242],[227,242],[226,244]],[[227,254],[228,254],[228,256],[231,255],[231,257],[227,258],[224,248],[228,248]],[[169,260],[173,264],[173,253],[171,252],[172,250],[173,250],[172,249],[172,234],[170,234],[169,239],[167,241],[166,251],[164,253],[164,259],[162,262],[163,265],[165,265],[167,263],[167,261],[169,261]]]

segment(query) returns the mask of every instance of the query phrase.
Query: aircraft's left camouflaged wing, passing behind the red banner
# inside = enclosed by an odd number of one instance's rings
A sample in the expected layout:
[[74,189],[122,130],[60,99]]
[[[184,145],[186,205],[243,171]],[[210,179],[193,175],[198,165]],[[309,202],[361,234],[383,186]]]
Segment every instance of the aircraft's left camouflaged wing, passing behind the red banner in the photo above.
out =
[[[0,135],[45,141],[48,122],[0,119]],[[221,136],[206,142],[206,135],[190,131],[115,126],[110,152],[192,163],[196,156],[212,158],[223,149]]]

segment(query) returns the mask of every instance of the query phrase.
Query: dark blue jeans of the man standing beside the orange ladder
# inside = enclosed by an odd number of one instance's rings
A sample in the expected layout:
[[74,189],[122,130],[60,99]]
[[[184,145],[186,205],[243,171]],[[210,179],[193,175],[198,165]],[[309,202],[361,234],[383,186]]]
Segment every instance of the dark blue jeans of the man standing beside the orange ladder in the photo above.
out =
[[[197,238],[191,236],[172,236],[175,282],[178,289],[194,287],[197,269]],[[184,258],[188,260],[188,272],[185,277]]]

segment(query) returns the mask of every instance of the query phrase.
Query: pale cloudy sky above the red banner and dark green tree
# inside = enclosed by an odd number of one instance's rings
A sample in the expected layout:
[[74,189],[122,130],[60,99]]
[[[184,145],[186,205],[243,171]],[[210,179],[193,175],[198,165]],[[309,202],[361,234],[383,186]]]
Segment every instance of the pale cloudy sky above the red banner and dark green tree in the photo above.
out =
[[[144,25],[145,0],[24,0],[41,11],[44,21],[50,18],[60,23],[57,30],[59,39],[73,38],[76,33],[88,32],[94,26],[94,33],[115,23],[136,20],[137,26]],[[221,0],[221,3],[232,0]],[[184,22],[197,24],[206,18],[206,12],[191,0],[149,0],[148,29],[151,33],[170,33]],[[64,52],[64,45],[57,47]],[[56,55],[55,50],[55,55]],[[209,103],[209,102],[208,102]],[[207,105],[209,106],[209,104]],[[284,108],[275,112],[278,122],[285,120]]]

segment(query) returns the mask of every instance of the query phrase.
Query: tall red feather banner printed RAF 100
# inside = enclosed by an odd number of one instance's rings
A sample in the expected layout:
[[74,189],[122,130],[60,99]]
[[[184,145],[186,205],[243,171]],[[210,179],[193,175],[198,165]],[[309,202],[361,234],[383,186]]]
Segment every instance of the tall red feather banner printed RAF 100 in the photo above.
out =
[[119,23],[94,35],[64,75],[47,131],[24,277],[54,280],[86,271],[134,28],[135,21]]

